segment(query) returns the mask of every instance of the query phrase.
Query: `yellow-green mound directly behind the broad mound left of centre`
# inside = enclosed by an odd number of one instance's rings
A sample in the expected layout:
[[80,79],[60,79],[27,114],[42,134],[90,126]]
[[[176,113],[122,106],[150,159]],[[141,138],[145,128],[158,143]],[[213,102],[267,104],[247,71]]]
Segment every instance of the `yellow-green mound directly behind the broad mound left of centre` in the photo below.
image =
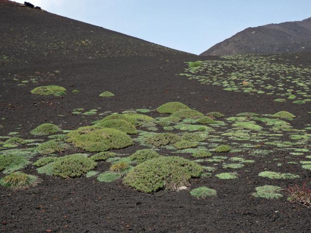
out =
[[95,126],[101,128],[112,128],[120,130],[127,134],[136,134],[138,133],[136,127],[130,122],[122,119],[112,119],[112,120],[103,120],[99,121]]

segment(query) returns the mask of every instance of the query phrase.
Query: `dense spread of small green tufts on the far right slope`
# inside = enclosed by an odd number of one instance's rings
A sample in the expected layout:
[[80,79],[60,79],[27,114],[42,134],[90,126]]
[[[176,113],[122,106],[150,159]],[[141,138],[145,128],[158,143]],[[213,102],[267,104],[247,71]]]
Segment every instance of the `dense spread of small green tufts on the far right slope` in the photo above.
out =
[[311,101],[311,67],[284,63],[278,55],[232,55],[222,56],[222,60],[187,64],[185,72],[179,75],[202,84],[219,85],[227,91],[251,95],[273,95],[278,102]]

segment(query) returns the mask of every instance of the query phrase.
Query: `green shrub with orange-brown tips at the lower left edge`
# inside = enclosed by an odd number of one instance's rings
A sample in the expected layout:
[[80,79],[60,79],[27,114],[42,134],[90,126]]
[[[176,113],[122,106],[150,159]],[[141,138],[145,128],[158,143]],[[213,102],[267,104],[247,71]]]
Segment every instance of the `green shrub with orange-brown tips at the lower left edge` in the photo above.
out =
[[25,189],[34,186],[37,177],[23,172],[12,172],[0,180],[0,184],[14,189]]

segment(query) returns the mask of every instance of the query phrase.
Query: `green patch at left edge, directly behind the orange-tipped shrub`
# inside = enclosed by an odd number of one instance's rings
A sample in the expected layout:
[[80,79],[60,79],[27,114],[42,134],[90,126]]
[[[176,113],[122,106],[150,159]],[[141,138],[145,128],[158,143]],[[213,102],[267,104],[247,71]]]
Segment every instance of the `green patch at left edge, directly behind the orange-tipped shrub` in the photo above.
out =
[[0,171],[10,173],[19,170],[29,164],[29,161],[22,155],[16,153],[0,154]]

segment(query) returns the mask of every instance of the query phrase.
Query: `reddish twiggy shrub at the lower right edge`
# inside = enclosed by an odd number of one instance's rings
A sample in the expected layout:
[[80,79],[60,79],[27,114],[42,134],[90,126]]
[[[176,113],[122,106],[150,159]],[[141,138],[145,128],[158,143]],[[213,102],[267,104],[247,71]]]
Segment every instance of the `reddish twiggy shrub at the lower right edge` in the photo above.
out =
[[289,193],[288,200],[291,202],[299,202],[306,206],[311,206],[311,189],[304,182],[302,186],[295,184],[286,189]]

